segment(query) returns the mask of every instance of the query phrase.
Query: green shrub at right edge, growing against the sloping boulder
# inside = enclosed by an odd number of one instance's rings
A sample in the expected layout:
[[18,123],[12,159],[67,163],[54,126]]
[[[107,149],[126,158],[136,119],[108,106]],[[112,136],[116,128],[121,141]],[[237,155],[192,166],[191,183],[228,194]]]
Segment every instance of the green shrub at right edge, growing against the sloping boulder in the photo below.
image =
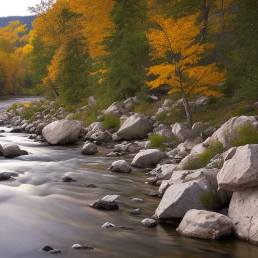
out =
[[258,130],[248,122],[246,125],[239,127],[236,132],[239,137],[232,141],[231,146],[242,146],[246,144],[258,144]]

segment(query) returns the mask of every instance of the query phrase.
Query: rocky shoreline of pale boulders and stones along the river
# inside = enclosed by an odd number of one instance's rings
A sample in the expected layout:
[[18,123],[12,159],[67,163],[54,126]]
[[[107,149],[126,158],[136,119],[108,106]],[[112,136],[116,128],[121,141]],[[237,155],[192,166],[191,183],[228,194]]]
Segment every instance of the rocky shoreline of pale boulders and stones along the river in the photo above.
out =
[[[26,107],[18,105],[16,110],[0,114],[0,125],[8,126],[9,132],[26,132],[30,139],[50,145],[77,142],[82,145],[82,155],[94,155],[99,145],[112,147],[107,155],[117,157],[109,167],[113,172],[130,173],[134,168],[147,168],[146,183],[157,185],[153,196],[162,199],[153,217],[142,221],[145,226],[172,223],[178,225],[178,232],[191,237],[218,239],[233,235],[257,244],[258,145],[232,147],[232,143],[239,138],[239,128],[256,128],[258,117],[232,117],[218,129],[201,121],[192,128],[179,122],[164,125],[156,121],[155,115],[166,110],[168,100],[153,116],[126,111],[137,101],[134,97],[123,103],[115,102],[100,111],[98,120],[104,114],[120,118],[117,132],[113,128],[106,130],[101,121],[84,127],[82,121],[70,120],[73,114],[64,108],[51,108],[50,101],[44,101],[43,111],[35,113],[33,121],[21,118],[19,113]],[[207,101],[199,98],[192,104],[205,105]],[[95,102],[91,97],[88,105]],[[151,147],[152,135],[161,135],[167,140],[162,150]],[[204,163],[204,155],[214,146],[220,146],[219,152]],[[17,145],[0,145],[0,155],[6,158],[27,154]],[[122,158],[126,154],[135,154],[131,164]],[[91,206],[118,209],[116,198],[106,196]]]

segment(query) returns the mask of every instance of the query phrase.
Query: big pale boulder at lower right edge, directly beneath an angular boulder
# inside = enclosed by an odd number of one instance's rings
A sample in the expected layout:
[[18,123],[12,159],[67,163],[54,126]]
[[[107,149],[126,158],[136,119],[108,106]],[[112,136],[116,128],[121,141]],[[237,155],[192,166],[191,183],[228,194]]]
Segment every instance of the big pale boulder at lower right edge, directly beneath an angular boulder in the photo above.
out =
[[228,217],[232,220],[236,237],[258,244],[258,187],[233,193]]

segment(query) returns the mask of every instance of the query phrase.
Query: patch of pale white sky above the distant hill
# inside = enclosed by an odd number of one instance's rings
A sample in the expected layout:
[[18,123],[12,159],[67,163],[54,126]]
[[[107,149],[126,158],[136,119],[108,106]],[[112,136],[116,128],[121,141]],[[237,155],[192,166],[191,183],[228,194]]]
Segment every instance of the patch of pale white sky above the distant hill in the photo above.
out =
[[0,0],[0,17],[33,15],[28,6],[35,6],[40,0]]

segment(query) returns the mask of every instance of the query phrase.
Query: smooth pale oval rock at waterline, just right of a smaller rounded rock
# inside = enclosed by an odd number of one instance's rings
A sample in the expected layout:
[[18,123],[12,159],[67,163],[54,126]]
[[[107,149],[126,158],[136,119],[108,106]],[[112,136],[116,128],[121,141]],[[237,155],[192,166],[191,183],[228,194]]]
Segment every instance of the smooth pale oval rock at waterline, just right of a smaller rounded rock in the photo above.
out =
[[131,165],[135,167],[153,167],[157,165],[161,159],[166,157],[166,153],[157,150],[149,149],[140,151],[133,159]]

